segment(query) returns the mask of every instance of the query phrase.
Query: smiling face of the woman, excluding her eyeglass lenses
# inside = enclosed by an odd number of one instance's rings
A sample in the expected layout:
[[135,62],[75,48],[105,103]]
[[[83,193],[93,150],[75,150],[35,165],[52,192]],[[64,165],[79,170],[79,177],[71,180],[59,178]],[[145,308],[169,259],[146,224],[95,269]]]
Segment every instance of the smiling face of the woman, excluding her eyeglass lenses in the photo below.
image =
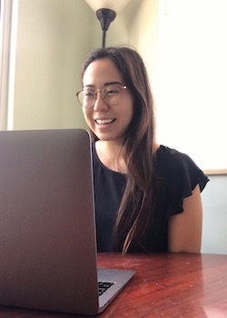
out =
[[[102,91],[110,84],[125,85],[123,75],[109,58],[95,60],[88,65],[83,82],[84,88],[93,92]],[[83,113],[86,123],[100,140],[122,142],[133,119],[133,96],[128,89],[122,89],[120,102],[109,105],[103,95],[97,93],[94,106],[83,107]]]

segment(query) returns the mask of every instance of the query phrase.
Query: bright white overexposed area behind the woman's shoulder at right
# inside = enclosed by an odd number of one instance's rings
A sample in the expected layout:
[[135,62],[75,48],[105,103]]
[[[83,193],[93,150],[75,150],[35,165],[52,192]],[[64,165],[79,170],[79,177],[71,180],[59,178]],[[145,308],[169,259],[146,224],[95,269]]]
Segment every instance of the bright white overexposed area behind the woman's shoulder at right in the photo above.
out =
[[159,3],[158,137],[227,174],[226,0]]

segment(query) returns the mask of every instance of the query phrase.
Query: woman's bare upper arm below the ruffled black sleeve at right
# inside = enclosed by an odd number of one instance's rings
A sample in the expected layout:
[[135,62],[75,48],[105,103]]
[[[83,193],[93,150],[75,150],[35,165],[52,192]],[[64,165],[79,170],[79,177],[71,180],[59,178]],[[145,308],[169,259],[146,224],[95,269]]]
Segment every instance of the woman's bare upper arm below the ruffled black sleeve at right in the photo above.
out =
[[169,252],[200,253],[202,241],[202,200],[199,184],[183,200],[183,213],[169,222]]

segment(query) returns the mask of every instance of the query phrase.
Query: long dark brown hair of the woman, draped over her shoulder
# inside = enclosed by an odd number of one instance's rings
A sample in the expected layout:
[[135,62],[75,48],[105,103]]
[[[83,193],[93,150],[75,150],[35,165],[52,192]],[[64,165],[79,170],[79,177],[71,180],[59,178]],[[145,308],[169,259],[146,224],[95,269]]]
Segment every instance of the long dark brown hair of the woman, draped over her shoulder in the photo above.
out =
[[[84,61],[82,81],[88,65],[101,58],[114,62],[133,95],[133,120],[123,142],[127,182],[115,224],[116,247],[126,253],[132,243],[142,243],[147,225],[153,219],[153,95],[142,57],[125,46],[90,53]],[[91,134],[94,141],[98,140],[93,132]]]

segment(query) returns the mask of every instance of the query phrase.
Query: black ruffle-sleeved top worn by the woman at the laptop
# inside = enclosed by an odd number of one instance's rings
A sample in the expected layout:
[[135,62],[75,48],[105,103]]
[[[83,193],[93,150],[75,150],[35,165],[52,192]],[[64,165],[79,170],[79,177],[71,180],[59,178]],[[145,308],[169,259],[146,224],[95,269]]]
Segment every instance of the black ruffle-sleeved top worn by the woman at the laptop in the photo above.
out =
[[[98,252],[114,252],[114,223],[126,177],[101,163],[94,143],[92,150],[97,248]],[[183,198],[192,194],[196,184],[202,191],[209,181],[187,154],[163,145],[156,152],[155,175],[155,220],[143,238],[143,245],[133,243],[129,252],[167,252],[169,217],[183,212]]]

